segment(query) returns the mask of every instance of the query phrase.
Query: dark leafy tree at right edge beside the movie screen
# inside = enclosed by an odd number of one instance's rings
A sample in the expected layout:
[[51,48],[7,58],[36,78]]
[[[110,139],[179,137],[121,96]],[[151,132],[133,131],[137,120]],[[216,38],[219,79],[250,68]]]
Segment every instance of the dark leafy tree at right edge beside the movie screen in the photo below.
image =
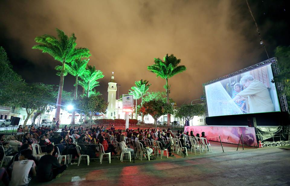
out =
[[274,77],[276,82],[284,86],[282,94],[286,95],[288,110],[290,109],[290,46],[278,46],[275,50],[275,56],[278,59],[280,73]]

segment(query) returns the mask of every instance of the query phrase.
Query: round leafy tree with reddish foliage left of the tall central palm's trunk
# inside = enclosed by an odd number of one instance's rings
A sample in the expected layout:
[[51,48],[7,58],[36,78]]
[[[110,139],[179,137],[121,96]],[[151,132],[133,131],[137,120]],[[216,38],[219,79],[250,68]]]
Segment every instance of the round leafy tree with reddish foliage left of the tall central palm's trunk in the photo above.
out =
[[157,119],[166,114],[172,113],[172,106],[163,102],[162,100],[151,100],[149,102],[144,102],[143,106],[140,108],[140,112],[144,115],[150,114],[153,119],[154,123],[157,127]]

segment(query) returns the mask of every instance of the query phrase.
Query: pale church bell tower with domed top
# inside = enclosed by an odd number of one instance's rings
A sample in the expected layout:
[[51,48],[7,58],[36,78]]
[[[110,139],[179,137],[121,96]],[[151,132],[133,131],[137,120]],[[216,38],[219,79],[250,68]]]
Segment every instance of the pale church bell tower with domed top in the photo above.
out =
[[[116,109],[116,91],[117,91],[117,83],[114,80],[114,72],[112,72],[112,77],[110,82],[108,83],[108,109],[107,109],[107,118],[114,119],[114,112]],[[117,118],[117,113],[115,113],[115,117]]]

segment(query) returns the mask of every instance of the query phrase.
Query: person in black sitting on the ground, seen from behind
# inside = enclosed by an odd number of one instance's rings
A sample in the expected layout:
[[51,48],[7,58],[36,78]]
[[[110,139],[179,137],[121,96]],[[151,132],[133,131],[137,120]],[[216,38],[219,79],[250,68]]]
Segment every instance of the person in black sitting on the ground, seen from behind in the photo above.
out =
[[53,145],[47,145],[47,155],[42,156],[39,160],[36,175],[40,182],[47,182],[51,181],[53,178],[58,178],[61,176],[61,173],[66,170],[66,165],[60,165],[57,158],[52,156],[53,151]]

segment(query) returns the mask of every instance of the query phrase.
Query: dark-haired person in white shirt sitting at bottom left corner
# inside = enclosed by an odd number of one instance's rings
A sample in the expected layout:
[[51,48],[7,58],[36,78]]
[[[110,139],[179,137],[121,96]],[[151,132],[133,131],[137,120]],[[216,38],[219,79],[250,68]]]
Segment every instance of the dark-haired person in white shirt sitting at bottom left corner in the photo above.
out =
[[32,156],[32,150],[24,149],[20,151],[19,160],[14,161],[11,181],[9,185],[13,186],[23,186],[28,185],[31,181],[29,177],[29,173],[31,172],[33,176],[36,175],[35,171],[35,162],[33,160],[29,160]]

